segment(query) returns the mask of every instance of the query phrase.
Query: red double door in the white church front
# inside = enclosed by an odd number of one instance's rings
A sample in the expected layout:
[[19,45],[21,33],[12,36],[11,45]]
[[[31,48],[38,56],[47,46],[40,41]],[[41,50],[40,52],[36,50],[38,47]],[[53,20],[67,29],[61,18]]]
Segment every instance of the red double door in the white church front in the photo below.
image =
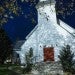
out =
[[44,61],[54,61],[54,47],[44,48]]

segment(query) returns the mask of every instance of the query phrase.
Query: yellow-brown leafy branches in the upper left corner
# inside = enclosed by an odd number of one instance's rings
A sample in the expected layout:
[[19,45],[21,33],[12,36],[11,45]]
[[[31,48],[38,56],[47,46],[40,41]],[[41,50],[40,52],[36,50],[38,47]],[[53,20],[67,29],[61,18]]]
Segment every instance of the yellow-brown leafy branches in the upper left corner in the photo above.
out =
[[13,15],[19,15],[20,7],[17,0],[1,0],[0,1],[0,25],[7,23],[9,19],[13,19]]

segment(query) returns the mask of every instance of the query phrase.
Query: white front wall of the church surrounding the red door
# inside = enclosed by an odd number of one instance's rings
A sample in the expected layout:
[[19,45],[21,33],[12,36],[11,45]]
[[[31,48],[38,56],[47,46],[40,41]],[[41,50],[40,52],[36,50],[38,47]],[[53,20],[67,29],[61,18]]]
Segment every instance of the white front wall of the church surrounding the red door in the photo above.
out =
[[69,44],[71,46],[71,49],[73,51],[75,50],[75,37],[73,37],[71,34],[69,34],[57,24],[56,17],[54,17],[53,19],[48,19],[47,14],[43,12],[43,8],[39,8],[38,28],[33,32],[33,34],[25,41],[25,43],[21,47],[22,63],[25,62],[25,53],[31,47],[33,48],[34,57],[36,57],[36,61],[34,62],[41,62],[44,60],[44,47],[54,47],[54,61],[59,60],[59,51],[64,45]]

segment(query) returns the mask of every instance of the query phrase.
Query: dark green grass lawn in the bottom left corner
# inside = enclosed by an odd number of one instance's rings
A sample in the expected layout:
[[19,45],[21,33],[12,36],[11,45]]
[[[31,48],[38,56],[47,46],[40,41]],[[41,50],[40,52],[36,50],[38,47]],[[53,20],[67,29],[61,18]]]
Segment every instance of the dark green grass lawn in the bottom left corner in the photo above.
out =
[[[7,69],[8,67],[12,68],[12,70]],[[11,64],[0,65],[0,75],[17,75],[19,70],[21,70],[20,65],[11,65]]]

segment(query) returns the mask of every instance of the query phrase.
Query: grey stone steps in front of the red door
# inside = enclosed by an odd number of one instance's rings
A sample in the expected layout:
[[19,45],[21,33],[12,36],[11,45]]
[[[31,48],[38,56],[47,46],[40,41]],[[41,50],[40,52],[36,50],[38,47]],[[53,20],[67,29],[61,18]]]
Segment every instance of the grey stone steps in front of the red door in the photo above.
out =
[[[49,74],[52,73],[52,75],[54,75],[56,73],[63,73],[62,66],[58,62],[37,63],[37,64],[35,64],[33,69],[37,70],[39,73],[41,73],[41,75],[44,75],[45,73],[49,73]],[[60,74],[60,75],[63,75],[63,74]]]

